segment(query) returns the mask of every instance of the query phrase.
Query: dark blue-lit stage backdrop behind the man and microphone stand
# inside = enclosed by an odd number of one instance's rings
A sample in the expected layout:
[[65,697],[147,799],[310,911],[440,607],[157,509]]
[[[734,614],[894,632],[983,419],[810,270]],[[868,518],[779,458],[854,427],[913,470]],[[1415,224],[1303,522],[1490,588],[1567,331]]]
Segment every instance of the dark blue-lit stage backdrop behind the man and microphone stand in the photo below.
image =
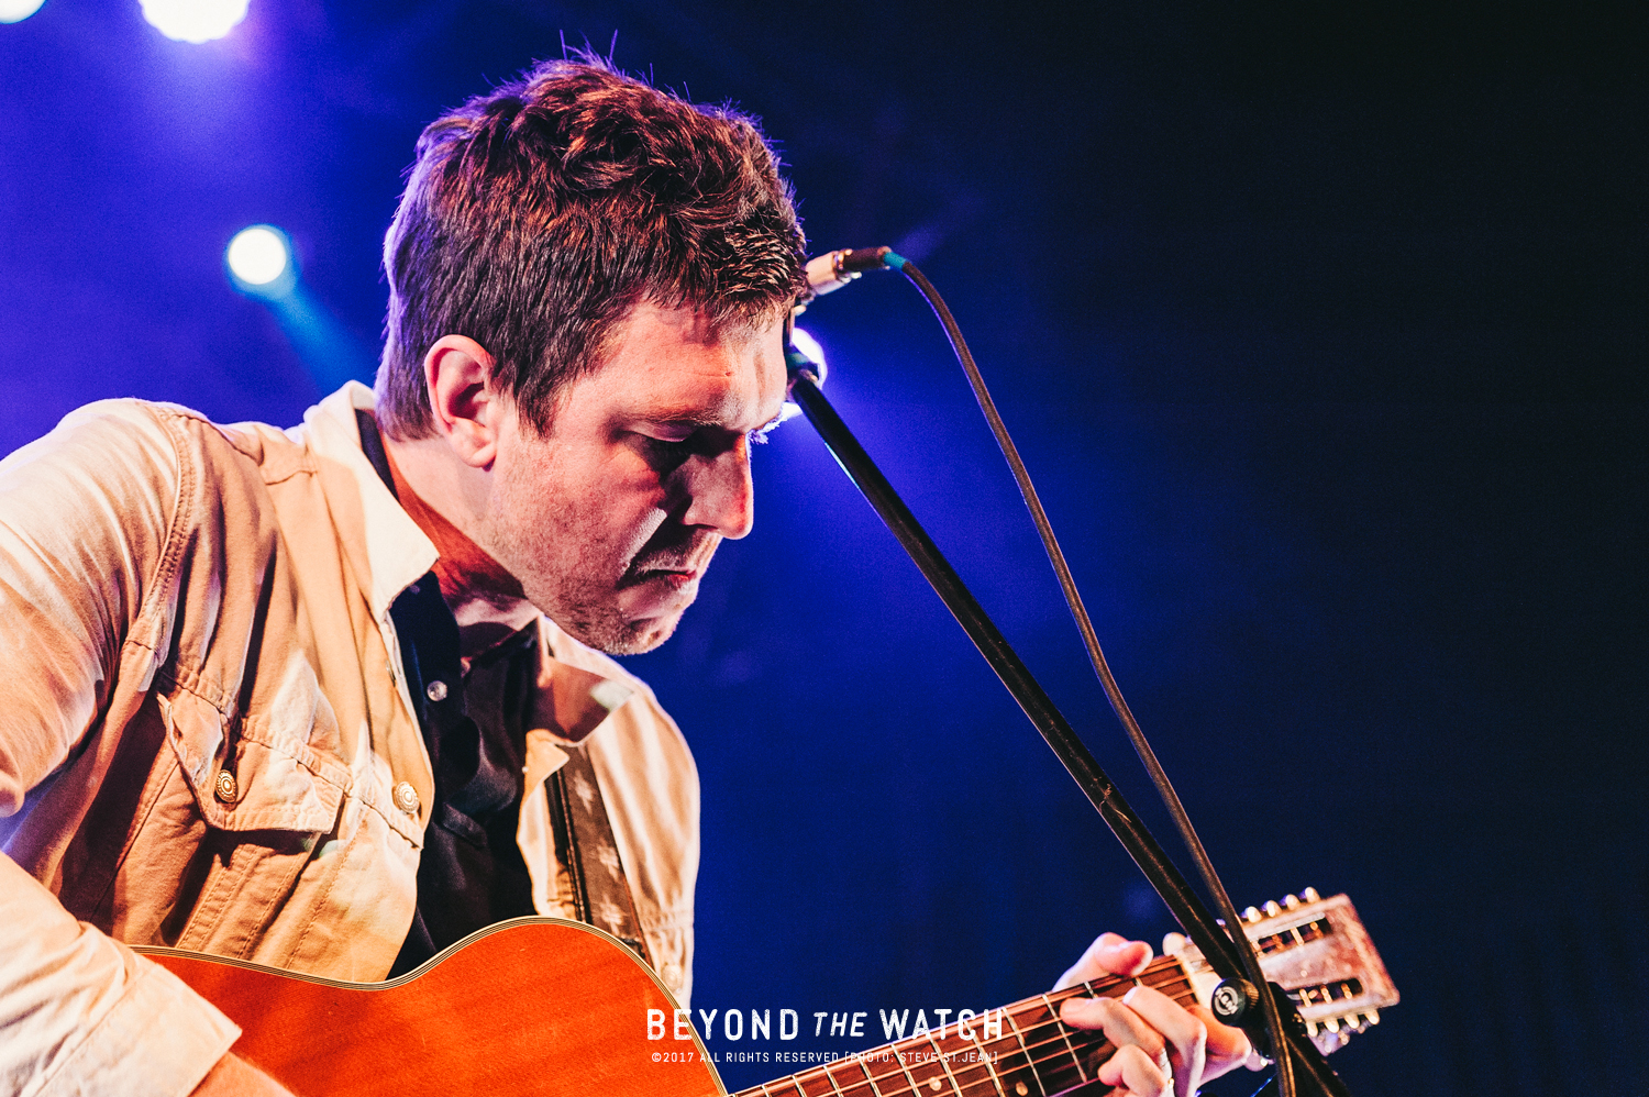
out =
[[[1233,897],[1372,929],[1405,998],[1336,1056],[1352,1092],[1642,1097],[1641,5],[252,0],[190,46],[48,0],[0,26],[0,452],[104,396],[295,422],[369,370],[420,125],[615,30],[765,119],[816,249],[947,292]],[[256,221],[330,365],[228,285]],[[1167,843],[927,308],[871,275],[805,325]],[[811,427],[757,483],[630,661],[704,784],[694,1005],[879,1036],[1169,929]]]

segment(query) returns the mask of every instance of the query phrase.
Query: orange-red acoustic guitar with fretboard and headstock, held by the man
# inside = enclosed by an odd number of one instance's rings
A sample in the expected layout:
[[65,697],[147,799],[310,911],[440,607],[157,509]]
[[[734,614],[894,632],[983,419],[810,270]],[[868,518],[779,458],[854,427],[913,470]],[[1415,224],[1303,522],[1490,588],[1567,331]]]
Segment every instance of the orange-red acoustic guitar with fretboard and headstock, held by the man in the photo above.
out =
[[[1346,896],[1321,899],[1306,889],[1263,911],[1248,907],[1243,930],[1319,1046],[1337,1046],[1397,1003]],[[678,1015],[651,968],[582,922],[500,922],[386,983],[340,983],[175,949],[137,952],[234,1019],[244,1031],[234,1051],[302,1097],[727,1094],[691,1018]],[[1052,1097],[1092,1081],[1113,1051],[1103,1034],[1062,1024],[1059,1003],[1120,996],[1136,982],[1207,1005],[1219,977],[1187,947],[1136,978],[914,1031],[737,1097]],[[904,1034],[909,1011],[897,1019]]]

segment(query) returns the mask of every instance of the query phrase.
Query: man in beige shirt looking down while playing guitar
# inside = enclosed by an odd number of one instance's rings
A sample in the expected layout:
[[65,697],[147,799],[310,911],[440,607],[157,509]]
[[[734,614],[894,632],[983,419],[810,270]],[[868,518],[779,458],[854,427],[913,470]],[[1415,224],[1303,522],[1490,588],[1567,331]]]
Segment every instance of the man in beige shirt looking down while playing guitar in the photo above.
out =
[[[96,404],[0,465],[8,1089],[280,1092],[117,942],[379,980],[557,914],[686,1000],[698,779],[602,652],[750,530],[801,244],[750,120],[543,64],[419,140],[376,394]],[[1067,1018],[1136,1094],[1248,1054],[1143,988]]]

